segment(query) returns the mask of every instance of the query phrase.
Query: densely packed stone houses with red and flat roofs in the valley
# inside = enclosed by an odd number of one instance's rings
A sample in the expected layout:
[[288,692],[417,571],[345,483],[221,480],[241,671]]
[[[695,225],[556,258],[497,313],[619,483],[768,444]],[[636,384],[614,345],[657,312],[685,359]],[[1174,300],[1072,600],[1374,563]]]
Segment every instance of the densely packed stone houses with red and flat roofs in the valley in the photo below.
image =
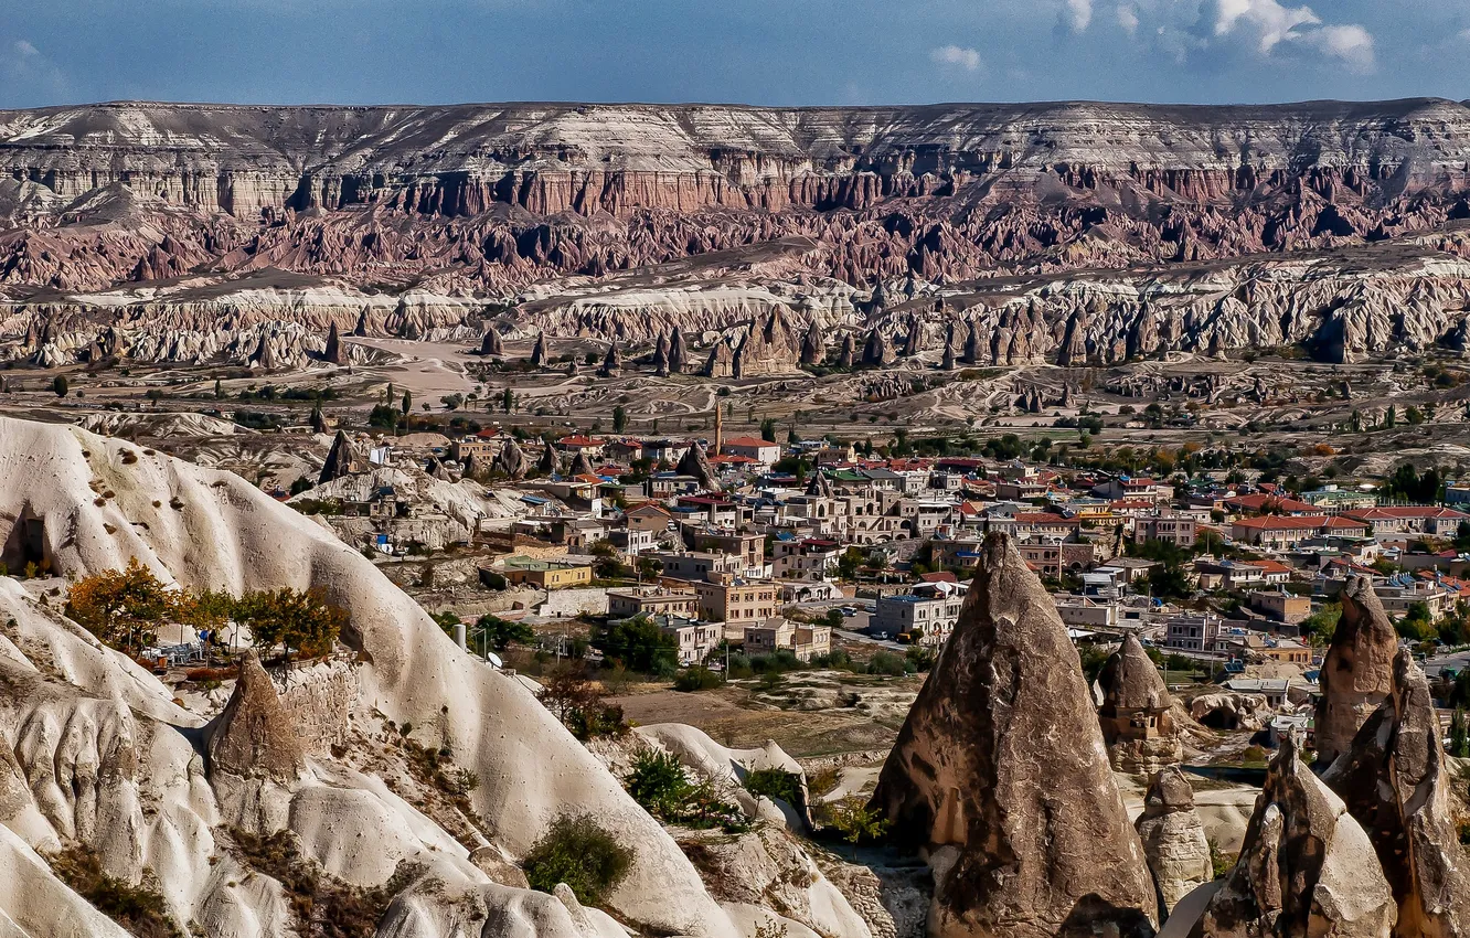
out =
[[[451,441],[437,466],[514,465],[503,451],[522,444],[484,431]],[[1133,632],[1208,660],[1310,672],[1299,623],[1355,573],[1376,578],[1395,615],[1423,604],[1438,619],[1470,598],[1460,579],[1470,559],[1442,547],[1470,515],[1385,506],[1357,488],[1292,495],[1223,473],[1169,482],[975,456],[861,459],[828,440],[782,445],[719,431],[685,441],[573,434],[539,465],[551,470],[488,482],[519,507],[478,520],[475,538],[497,553],[482,581],[601,590],[606,615],[656,620],[684,663],[726,640],[810,660],[831,651],[823,613],[838,607],[867,613],[851,625],[876,640],[938,645],[994,531],[1051,585],[1079,641]],[[1229,615],[1154,597],[1161,562],[1138,554],[1158,551],[1130,550],[1151,541],[1189,557],[1194,588],[1235,597]],[[601,582],[598,557],[609,556],[631,575]]]

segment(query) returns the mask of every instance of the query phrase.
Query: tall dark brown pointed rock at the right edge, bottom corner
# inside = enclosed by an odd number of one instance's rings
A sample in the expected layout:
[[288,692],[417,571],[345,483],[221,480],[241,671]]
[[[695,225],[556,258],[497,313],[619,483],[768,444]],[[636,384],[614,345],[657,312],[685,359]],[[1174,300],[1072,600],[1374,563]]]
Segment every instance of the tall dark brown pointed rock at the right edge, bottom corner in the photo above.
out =
[[1470,934],[1470,864],[1441,732],[1424,672],[1399,650],[1388,698],[1323,775],[1373,841],[1398,901],[1395,938]]

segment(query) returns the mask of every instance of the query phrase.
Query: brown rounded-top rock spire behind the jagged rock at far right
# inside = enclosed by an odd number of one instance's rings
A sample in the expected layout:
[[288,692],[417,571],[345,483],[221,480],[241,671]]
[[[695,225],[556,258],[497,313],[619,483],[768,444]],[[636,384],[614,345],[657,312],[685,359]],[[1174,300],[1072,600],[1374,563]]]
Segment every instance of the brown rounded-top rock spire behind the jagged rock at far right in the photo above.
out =
[[1349,578],[1339,598],[1342,617],[1322,660],[1317,701],[1317,759],[1323,766],[1352,745],[1358,728],[1394,690],[1398,653],[1398,634],[1370,578]]

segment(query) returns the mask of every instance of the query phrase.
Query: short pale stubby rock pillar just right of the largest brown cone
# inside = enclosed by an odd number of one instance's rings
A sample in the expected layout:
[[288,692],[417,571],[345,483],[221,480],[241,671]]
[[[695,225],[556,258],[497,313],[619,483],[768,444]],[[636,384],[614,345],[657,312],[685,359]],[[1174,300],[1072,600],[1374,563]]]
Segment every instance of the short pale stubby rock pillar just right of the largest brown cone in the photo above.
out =
[[1210,839],[1195,813],[1194,788],[1177,766],[1161,770],[1148,784],[1144,813],[1133,828],[1144,844],[1164,916],[1192,889],[1214,879]]

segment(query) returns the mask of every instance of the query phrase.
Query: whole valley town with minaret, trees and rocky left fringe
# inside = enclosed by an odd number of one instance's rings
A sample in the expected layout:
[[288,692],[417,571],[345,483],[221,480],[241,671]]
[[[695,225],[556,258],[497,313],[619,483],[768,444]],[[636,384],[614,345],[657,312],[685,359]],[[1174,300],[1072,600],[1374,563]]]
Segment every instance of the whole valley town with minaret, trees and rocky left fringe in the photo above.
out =
[[[989,532],[1047,585],[1094,675],[1132,635],[1213,729],[1310,740],[1355,576],[1432,676],[1470,659],[1454,654],[1470,642],[1470,513],[1455,507],[1470,509],[1470,487],[1435,470],[1298,479],[1195,443],[1125,453],[1129,472],[1014,435],[938,454],[956,443],[763,429],[725,435],[716,410],[713,434],[694,438],[338,432],[291,504],[497,663],[506,642],[495,653],[470,625],[485,616],[517,623],[541,659],[637,659],[650,681],[748,676],[776,654],[926,670]],[[660,648],[610,645],[629,622],[656,628]]]

